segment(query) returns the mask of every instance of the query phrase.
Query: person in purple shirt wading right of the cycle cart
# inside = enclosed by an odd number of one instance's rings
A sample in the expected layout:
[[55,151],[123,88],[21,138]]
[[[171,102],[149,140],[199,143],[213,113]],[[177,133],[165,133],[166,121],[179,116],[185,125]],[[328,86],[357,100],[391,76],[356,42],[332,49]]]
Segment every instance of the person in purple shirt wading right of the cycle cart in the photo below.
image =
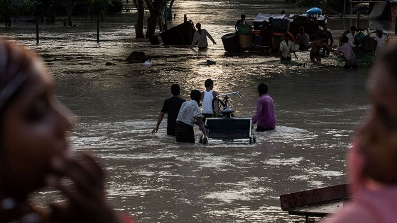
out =
[[256,124],[257,132],[273,130],[276,127],[273,99],[268,96],[268,85],[258,85],[258,104],[256,105],[255,116],[252,117],[252,124]]

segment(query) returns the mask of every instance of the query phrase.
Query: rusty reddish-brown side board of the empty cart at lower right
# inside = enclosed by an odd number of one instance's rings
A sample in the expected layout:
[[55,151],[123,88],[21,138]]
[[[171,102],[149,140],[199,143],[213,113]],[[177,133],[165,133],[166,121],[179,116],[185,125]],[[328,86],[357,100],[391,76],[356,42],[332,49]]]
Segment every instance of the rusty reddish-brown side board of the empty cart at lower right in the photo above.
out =
[[281,209],[288,211],[297,207],[347,199],[347,186],[343,184],[281,195]]

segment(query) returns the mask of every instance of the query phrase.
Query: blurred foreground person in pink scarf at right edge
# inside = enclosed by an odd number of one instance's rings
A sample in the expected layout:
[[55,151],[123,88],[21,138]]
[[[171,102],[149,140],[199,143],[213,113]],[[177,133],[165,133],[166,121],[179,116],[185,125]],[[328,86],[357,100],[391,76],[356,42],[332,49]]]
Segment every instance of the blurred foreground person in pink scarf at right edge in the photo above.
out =
[[327,223],[397,221],[397,45],[375,63],[369,81],[371,110],[351,149],[353,200]]

